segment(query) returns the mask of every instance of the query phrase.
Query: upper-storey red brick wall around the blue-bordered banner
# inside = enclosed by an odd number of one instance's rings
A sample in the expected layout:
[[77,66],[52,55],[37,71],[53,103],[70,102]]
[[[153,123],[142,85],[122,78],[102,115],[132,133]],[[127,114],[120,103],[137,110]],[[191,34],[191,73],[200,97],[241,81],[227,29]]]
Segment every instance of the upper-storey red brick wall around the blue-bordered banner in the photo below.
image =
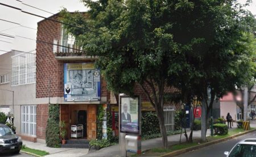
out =
[[[58,20],[57,16],[52,19]],[[82,63],[85,61],[60,61],[55,59],[53,54],[53,40],[59,40],[61,34],[61,24],[50,20],[43,20],[38,23],[38,32],[36,43],[36,97],[49,96],[49,79],[50,97],[64,96],[64,63]],[[42,43],[46,41],[51,44]],[[101,96],[107,96],[106,83],[101,79]]]

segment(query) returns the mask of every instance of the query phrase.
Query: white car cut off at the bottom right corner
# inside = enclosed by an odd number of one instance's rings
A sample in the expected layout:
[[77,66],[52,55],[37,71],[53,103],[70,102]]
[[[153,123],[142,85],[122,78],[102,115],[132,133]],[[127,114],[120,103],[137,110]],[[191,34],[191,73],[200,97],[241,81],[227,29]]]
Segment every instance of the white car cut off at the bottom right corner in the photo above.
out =
[[247,138],[238,142],[230,152],[225,151],[227,157],[256,156],[256,138]]

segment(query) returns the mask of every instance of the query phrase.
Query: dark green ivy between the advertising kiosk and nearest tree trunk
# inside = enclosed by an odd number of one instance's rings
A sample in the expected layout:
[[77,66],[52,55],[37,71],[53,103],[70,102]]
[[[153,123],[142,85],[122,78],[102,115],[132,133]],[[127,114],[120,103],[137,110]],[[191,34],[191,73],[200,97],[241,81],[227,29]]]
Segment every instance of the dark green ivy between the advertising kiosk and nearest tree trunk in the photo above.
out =
[[142,112],[141,117],[142,136],[159,134],[159,121],[155,112]]

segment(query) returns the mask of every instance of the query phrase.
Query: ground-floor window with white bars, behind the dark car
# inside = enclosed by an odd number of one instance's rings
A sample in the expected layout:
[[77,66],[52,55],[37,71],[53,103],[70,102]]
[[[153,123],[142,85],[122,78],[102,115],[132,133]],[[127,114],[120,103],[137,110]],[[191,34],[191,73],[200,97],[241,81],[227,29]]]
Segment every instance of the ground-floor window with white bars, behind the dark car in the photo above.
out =
[[36,135],[36,105],[21,106],[21,132],[22,134]]

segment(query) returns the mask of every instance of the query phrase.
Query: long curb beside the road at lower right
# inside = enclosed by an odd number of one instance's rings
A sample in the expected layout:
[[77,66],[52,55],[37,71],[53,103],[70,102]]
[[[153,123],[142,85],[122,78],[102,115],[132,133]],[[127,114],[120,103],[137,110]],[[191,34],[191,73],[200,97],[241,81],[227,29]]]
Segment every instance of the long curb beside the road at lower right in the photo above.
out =
[[216,139],[214,141],[202,143],[202,144],[197,145],[197,146],[192,146],[192,147],[184,148],[184,149],[181,149],[181,150],[172,151],[172,152],[169,152],[167,154],[160,155],[160,157],[176,156],[176,155],[184,154],[185,152],[189,152],[189,151],[192,151],[192,150],[198,150],[199,148],[203,148],[203,147],[207,147],[207,146],[210,146],[210,145],[214,145],[216,143],[224,142],[224,141],[227,141],[229,139],[236,138],[236,137],[239,137],[241,135],[245,135],[247,133],[251,133],[251,132],[253,132],[255,130],[256,129],[252,129],[252,130],[249,130],[249,131],[244,131],[243,133],[235,134],[235,135],[232,135],[230,137]]

